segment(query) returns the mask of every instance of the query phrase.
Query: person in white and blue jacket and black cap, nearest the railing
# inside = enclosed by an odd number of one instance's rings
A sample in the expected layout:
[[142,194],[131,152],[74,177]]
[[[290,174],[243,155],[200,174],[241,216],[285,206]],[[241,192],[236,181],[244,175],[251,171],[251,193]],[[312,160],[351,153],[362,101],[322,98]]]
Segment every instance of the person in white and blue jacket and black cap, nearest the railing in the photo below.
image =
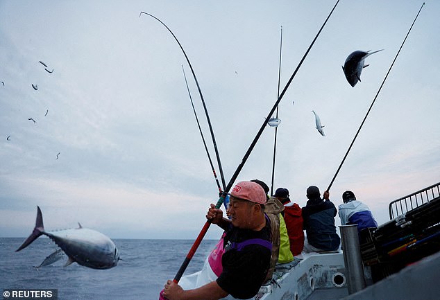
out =
[[357,201],[352,191],[345,191],[342,194],[342,201],[344,204],[338,206],[342,225],[357,224],[358,233],[364,228],[378,227],[378,222],[374,220],[369,206]]

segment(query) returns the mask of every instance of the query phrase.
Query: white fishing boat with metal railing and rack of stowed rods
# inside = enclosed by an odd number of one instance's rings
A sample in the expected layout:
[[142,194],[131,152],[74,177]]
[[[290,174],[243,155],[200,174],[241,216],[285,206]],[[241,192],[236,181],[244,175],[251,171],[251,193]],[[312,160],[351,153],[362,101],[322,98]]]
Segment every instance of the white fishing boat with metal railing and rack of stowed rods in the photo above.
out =
[[278,265],[254,299],[440,299],[440,182],[390,202],[389,217],[360,236],[340,227],[339,251]]

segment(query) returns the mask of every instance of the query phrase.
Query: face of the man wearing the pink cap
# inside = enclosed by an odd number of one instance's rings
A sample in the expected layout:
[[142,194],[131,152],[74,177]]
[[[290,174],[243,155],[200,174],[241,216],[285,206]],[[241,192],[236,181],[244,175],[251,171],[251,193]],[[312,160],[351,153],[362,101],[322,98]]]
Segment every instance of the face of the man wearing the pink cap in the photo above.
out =
[[230,197],[228,212],[231,217],[232,226],[250,229],[255,213],[254,206],[255,203],[253,202]]

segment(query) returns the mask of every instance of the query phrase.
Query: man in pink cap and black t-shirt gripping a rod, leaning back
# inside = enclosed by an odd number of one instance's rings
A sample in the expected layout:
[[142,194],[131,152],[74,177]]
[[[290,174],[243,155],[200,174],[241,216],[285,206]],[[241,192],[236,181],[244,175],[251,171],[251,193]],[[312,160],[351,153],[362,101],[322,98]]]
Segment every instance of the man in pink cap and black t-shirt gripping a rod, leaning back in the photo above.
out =
[[217,280],[194,290],[183,290],[167,281],[164,297],[169,300],[221,299],[229,294],[249,299],[257,294],[271,261],[271,225],[264,213],[266,193],[260,184],[239,182],[230,193],[230,219],[223,218],[221,209],[211,204],[206,218],[225,231],[221,263],[223,270]]

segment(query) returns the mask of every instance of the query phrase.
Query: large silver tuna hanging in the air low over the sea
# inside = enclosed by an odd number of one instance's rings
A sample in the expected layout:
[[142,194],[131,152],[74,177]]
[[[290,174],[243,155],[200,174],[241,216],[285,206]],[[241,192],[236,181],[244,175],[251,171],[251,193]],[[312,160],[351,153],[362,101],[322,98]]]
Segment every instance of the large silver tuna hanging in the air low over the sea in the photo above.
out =
[[43,216],[38,206],[37,220],[31,236],[15,251],[19,252],[28,247],[31,242],[43,234],[49,236],[65,252],[68,257],[65,266],[76,262],[92,269],[110,269],[110,267],[115,267],[119,261],[119,251],[108,236],[92,229],[83,228],[81,224],[76,229],[45,231]]

